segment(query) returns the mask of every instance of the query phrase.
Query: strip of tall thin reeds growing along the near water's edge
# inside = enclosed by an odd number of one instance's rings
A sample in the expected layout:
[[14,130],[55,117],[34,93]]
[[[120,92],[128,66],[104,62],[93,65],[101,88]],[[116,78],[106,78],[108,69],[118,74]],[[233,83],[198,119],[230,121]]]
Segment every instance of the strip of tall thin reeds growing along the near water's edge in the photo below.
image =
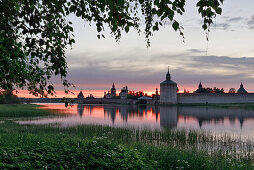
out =
[[31,134],[66,134],[80,138],[106,137],[125,144],[149,144],[153,146],[170,146],[178,149],[197,150],[208,155],[220,155],[225,158],[252,160],[254,144],[229,135],[216,136],[209,132],[185,130],[148,130],[134,128],[115,128],[100,125],[80,125],[75,127],[59,127],[49,125],[19,125],[6,122],[0,128],[2,133]]

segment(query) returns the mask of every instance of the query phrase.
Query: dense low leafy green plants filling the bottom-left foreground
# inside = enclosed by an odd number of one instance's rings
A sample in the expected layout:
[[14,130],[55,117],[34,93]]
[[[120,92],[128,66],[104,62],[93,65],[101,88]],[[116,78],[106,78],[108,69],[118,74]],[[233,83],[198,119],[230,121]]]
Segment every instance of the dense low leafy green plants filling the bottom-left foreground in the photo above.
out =
[[[1,135],[10,137],[10,135]],[[22,139],[23,138],[23,139]],[[24,144],[0,144],[1,169],[151,169],[153,164],[140,151],[103,139],[66,135],[22,134]]]

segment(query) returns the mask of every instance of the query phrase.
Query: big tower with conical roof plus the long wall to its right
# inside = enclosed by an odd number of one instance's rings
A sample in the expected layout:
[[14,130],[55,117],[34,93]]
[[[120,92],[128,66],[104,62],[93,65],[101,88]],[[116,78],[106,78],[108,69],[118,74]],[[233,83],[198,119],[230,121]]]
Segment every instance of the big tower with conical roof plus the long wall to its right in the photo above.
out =
[[[199,84],[199,89],[202,89]],[[160,104],[220,104],[254,103],[254,93],[247,93],[241,83],[237,93],[177,93],[177,83],[171,80],[169,70],[166,80],[160,83]]]

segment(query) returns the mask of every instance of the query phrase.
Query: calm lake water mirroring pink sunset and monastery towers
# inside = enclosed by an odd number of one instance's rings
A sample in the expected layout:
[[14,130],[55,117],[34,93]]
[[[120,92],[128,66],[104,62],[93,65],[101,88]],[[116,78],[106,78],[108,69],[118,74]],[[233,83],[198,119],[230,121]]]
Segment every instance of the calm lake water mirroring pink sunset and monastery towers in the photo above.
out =
[[254,110],[136,105],[73,105],[65,108],[63,104],[43,104],[42,108],[69,116],[46,117],[21,123],[207,130],[254,139]]

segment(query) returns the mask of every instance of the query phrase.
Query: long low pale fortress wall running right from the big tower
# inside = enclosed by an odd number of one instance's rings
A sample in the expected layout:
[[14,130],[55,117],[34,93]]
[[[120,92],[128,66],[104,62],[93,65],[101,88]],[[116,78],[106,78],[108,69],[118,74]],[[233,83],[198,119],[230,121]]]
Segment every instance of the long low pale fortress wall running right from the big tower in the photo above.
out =
[[254,93],[238,94],[238,93],[179,93],[177,94],[177,102],[182,104],[188,103],[254,103]]

